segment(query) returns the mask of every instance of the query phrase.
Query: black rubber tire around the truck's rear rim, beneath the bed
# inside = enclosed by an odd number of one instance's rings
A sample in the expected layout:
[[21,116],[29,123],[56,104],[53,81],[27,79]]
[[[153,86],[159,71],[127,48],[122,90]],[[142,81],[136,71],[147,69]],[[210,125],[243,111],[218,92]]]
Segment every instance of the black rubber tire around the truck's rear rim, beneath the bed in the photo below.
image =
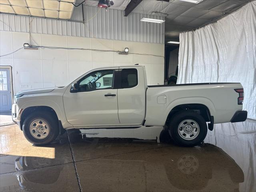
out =
[[[193,120],[199,126],[198,135],[192,140],[185,140],[179,134],[179,125],[184,120]],[[175,144],[178,144],[179,146],[192,147],[199,145],[206,137],[207,124],[200,114],[196,114],[191,111],[179,112],[170,120],[168,131]]]

